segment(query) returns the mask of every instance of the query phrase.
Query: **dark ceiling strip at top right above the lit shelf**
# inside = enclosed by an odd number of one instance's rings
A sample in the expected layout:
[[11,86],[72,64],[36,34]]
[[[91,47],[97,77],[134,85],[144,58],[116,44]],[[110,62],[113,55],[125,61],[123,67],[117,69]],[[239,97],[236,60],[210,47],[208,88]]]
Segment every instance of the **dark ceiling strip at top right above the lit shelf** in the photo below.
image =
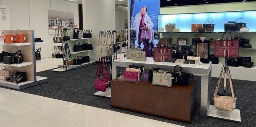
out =
[[160,0],[160,7],[167,6],[185,6],[198,4],[218,4],[230,2],[250,2],[256,0]]

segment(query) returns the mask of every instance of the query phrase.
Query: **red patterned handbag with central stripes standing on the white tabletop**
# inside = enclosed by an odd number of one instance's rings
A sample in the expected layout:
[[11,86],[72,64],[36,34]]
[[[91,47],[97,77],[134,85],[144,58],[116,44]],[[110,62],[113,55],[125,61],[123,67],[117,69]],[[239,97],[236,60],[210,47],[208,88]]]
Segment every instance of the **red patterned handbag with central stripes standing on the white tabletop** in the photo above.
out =
[[164,47],[161,46],[164,43],[158,43],[158,47],[153,49],[153,60],[155,62],[162,62],[166,58],[172,58],[172,49],[168,48],[168,45],[164,44]]

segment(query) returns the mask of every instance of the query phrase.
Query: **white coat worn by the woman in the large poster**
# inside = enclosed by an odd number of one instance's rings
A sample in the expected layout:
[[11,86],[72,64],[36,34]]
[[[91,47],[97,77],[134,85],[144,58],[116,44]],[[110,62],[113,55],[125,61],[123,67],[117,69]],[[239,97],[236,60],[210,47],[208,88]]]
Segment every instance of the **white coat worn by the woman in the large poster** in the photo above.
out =
[[[139,36],[139,31],[140,31],[140,20],[141,20],[141,17],[142,14],[141,13],[138,13],[136,14],[135,16],[135,19],[134,19],[134,22],[133,22],[133,25],[132,25],[132,29],[133,30],[136,30],[136,41],[135,41],[135,44],[138,44],[138,40],[141,41],[141,38]],[[148,29],[150,29],[152,32],[152,39],[151,39],[151,42],[153,42],[154,40],[154,31],[153,31],[153,27],[154,27],[154,24],[153,22],[151,21],[150,17],[148,16],[147,13],[145,13],[145,17],[144,17],[144,22],[145,24],[148,26]]]

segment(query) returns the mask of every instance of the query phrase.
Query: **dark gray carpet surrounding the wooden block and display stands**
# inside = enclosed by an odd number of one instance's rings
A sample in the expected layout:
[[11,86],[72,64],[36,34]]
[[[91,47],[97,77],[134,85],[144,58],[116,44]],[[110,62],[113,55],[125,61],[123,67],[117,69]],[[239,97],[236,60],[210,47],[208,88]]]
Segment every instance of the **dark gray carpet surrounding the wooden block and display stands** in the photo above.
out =
[[[234,87],[237,96],[236,109],[240,109],[242,123],[234,123],[220,119],[200,116],[200,85],[198,85],[198,104],[192,117],[191,124],[172,121],[159,117],[134,113],[121,109],[112,108],[110,99],[94,96],[94,75],[96,65],[85,67],[78,70],[69,70],[66,72],[53,72],[50,70],[37,73],[38,76],[50,77],[50,82],[21,90],[25,93],[31,93],[44,97],[80,103],[84,105],[99,107],[112,111],[118,111],[130,115],[136,115],[158,121],[184,125],[188,127],[256,127],[256,82],[234,80]],[[200,77],[195,76],[200,83]],[[211,96],[213,96],[216,87],[217,78],[212,78]],[[213,99],[211,98],[211,105]]]

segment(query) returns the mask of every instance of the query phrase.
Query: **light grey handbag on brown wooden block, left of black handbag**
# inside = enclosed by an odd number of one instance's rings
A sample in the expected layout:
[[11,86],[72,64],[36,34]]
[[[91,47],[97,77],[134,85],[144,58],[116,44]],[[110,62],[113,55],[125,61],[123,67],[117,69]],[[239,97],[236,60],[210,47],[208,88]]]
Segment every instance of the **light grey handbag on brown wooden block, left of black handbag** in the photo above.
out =
[[167,71],[153,71],[153,85],[161,85],[166,87],[172,86],[172,74]]

